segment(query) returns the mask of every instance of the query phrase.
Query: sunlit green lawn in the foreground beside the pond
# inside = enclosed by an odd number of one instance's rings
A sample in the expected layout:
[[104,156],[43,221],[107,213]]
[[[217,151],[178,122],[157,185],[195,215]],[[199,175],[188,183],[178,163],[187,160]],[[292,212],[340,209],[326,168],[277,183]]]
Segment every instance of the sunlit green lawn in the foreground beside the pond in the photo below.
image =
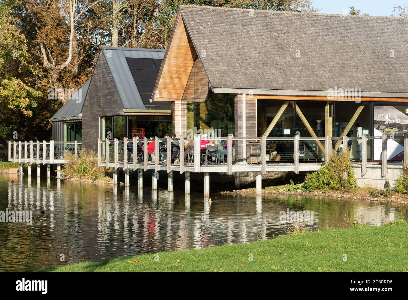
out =
[[[160,252],[38,271],[408,271],[408,224],[323,229],[250,244]],[[253,261],[248,258],[252,254]],[[344,254],[347,261],[344,261]],[[135,262],[134,260],[137,260]]]

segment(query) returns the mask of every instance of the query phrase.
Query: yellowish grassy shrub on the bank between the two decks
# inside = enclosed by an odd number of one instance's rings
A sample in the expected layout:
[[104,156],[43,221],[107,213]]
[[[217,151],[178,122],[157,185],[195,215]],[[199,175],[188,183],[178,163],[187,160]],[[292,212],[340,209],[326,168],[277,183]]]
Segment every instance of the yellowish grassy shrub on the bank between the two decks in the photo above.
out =
[[64,157],[67,160],[63,167],[66,178],[97,180],[107,175],[106,168],[98,167],[98,157],[93,151],[81,149],[78,158],[67,151]]

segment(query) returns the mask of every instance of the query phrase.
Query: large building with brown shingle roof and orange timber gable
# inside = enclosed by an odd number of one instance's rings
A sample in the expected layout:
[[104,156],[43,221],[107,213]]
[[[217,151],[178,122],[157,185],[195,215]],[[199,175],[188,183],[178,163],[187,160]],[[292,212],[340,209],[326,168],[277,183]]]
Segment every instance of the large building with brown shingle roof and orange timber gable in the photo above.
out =
[[[357,123],[368,137],[403,134],[407,29],[406,18],[182,5],[153,103],[173,105],[177,136],[340,138]],[[324,153],[317,140],[304,149]]]

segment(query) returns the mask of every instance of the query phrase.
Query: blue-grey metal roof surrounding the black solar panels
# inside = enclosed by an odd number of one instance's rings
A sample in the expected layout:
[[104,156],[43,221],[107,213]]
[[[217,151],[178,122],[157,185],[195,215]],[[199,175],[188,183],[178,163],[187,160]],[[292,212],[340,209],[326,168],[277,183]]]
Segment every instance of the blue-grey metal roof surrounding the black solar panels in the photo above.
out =
[[[118,89],[123,109],[146,109],[146,104],[140,96],[126,58],[151,58],[163,60],[165,50],[102,47],[102,53],[109,66],[116,88]],[[151,93],[153,93],[153,89],[150,92],[150,95]],[[151,103],[151,106],[154,106],[154,108],[157,109],[160,107],[171,109],[171,103],[168,102],[153,102]]]

